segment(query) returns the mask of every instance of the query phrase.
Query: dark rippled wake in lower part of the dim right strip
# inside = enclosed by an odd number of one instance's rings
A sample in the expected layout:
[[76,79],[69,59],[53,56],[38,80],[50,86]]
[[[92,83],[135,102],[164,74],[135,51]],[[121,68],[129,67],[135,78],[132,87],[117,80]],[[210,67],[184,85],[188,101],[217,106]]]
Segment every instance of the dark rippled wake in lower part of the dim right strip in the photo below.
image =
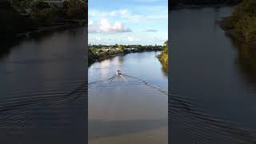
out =
[[170,137],[174,141],[178,137],[191,144],[256,143],[256,131],[210,114],[194,99],[169,94],[168,103],[170,131],[173,132]]

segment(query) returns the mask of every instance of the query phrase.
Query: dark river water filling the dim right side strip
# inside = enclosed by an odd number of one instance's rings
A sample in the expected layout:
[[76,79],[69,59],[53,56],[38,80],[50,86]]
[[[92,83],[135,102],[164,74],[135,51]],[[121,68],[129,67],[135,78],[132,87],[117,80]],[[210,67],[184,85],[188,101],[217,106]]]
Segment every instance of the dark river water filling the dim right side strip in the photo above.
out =
[[218,26],[233,8],[170,13],[170,142],[256,143],[256,61]]

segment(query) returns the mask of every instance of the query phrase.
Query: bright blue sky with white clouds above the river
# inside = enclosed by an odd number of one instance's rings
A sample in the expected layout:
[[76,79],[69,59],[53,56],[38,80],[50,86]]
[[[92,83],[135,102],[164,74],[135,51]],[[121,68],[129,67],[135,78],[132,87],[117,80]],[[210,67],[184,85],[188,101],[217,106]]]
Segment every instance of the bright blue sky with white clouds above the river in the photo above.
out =
[[89,0],[89,44],[162,45],[168,0]]

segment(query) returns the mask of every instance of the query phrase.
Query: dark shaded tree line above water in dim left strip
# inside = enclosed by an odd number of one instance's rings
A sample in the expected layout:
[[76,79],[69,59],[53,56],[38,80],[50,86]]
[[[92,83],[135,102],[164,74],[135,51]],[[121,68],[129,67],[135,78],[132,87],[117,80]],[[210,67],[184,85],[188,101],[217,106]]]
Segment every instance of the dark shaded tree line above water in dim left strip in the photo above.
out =
[[0,37],[36,30],[40,26],[53,26],[66,19],[86,19],[87,0],[66,0],[62,7],[42,0],[13,0],[0,2]]

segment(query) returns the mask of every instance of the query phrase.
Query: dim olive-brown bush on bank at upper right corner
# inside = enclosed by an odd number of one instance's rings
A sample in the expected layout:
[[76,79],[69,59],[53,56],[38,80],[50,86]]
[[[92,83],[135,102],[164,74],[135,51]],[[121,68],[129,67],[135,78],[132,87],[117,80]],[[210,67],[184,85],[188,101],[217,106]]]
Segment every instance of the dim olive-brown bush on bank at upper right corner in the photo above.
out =
[[243,0],[230,17],[222,18],[220,26],[231,38],[256,48],[256,1]]

